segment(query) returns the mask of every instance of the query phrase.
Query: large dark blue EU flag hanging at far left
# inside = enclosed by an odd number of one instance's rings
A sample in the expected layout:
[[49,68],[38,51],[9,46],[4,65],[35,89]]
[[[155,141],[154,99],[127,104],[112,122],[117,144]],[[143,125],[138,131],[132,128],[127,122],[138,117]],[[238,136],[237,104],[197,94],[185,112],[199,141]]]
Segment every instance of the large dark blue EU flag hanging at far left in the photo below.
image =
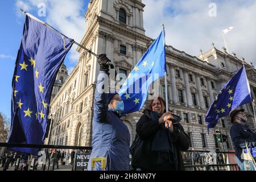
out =
[[[43,144],[57,73],[73,40],[26,15],[13,77],[9,143]],[[9,148],[37,155],[38,148]]]

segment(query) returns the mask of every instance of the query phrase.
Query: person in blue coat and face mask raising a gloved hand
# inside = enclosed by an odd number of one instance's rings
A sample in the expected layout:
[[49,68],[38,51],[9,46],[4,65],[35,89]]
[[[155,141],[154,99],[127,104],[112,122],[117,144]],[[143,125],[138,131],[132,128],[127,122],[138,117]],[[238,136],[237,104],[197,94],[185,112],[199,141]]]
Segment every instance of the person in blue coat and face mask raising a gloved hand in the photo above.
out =
[[[106,158],[107,171],[129,171],[130,169],[130,132],[120,119],[124,109],[118,93],[108,93],[109,62],[106,55],[98,56],[100,75],[98,76],[93,104],[92,154],[88,171],[91,171],[93,158]],[[105,91],[104,91],[105,90]],[[93,170],[101,171],[101,163]]]

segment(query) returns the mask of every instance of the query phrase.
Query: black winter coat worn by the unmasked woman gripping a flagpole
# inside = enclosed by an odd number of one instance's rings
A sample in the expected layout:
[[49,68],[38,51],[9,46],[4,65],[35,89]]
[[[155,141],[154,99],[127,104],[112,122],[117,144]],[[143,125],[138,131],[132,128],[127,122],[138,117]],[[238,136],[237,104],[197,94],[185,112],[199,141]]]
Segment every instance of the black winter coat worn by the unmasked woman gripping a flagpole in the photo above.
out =
[[[148,113],[146,110],[145,113]],[[148,170],[176,170],[183,171],[183,158],[181,151],[187,151],[189,148],[190,139],[187,134],[185,134],[183,127],[178,123],[174,125],[174,133],[171,134],[172,144],[176,149],[175,152],[175,167],[174,168],[164,168],[156,165],[156,159],[159,153],[151,151],[152,140],[154,139],[155,133],[160,129],[159,123],[151,121],[150,114],[144,114],[139,119],[136,131],[139,138],[142,140],[142,150],[139,152],[139,156],[133,156],[131,159],[131,166],[133,168],[142,168]]]

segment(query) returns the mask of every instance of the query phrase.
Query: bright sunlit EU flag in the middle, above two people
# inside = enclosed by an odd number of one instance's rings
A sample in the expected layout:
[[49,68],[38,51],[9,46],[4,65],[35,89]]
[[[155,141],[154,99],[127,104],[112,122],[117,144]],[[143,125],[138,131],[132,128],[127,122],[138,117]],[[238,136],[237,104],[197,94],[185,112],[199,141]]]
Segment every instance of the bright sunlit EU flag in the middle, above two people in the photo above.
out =
[[163,77],[164,72],[166,72],[166,50],[164,31],[162,31],[123,82],[119,91],[119,96],[125,104],[122,114],[140,110],[146,101],[151,83]]

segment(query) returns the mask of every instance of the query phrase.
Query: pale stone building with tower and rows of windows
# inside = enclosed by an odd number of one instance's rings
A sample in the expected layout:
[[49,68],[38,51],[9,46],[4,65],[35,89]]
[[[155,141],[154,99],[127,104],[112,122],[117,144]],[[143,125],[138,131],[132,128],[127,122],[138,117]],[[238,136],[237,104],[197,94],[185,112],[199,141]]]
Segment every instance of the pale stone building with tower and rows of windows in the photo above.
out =
[[[152,43],[143,28],[144,6],[141,0],[91,1],[85,14],[86,30],[81,45],[97,54],[106,53],[118,73],[129,75]],[[93,97],[99,68],[96,57],[81,48],[77,51],[81,53],[77,65],[64,83],[58,82],[63,74],[60,72],[53,88],[51,144],[90,146],[92,142]],[[208,135],[205,115],[222,86],[241,68],[243,60],[234,53],[229,55],[225,49],[218,50],[214,44],[209,51],[201,51],[198,57],[172,46],[166,46],[166,55],[170,109],[183,118],[181,124],[191,136],[191,149],[222,150],[222,144],[214,137],[214,130]],[[255,98],[256,69],[250,64],[245,65]],[[161,80],[161,85],[160,93],[165,97],[164,80]],[[255,129],[252,106],[242,107]],[[131,141],[143,109],[122,118],[129,128]],[[231,149],[229,118],[220,119],[217,127],[228,136],[224,149]]]

